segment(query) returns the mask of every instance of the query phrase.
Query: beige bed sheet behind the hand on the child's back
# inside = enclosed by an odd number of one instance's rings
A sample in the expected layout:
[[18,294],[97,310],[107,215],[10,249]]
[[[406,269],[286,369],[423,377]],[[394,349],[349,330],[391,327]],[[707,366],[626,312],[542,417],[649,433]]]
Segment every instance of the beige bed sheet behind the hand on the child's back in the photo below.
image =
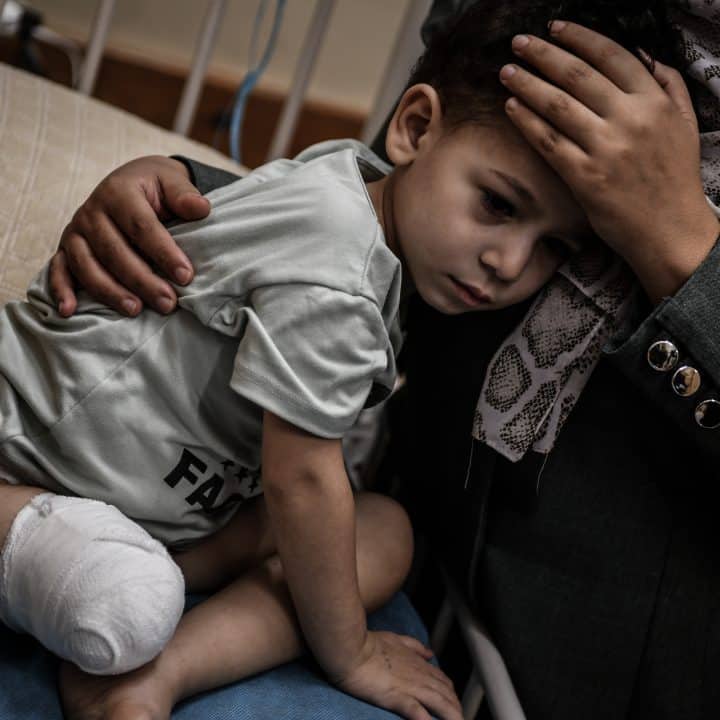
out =
[[150,154],[242,170],[206,145],[0,63],[0,306],[24,295],[92,188]]

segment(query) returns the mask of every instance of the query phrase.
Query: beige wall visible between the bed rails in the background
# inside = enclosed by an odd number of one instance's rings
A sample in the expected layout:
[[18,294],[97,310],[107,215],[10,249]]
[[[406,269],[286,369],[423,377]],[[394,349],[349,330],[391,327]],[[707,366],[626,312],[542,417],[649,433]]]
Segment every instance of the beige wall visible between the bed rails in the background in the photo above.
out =
[[[53,29],[87,38],[95,0],[26,0]],[[372,106],[408,0],[339,0],[308,92],[314,100],[367,112]],[[108,48],[154,62],[188,67],[203,0],[118,0]],[[239,83],[247,66],[257,0],[230,0],[210,72]],[[285,91],[314,8],[288,0],[276,54],[261,86]],[[274,10],[274,2],[270,3]],[[268,13],[271,15],[271,12]],[[266,19],[265,31],[269,28]],[[263,34],[261,47],[266,38]]]

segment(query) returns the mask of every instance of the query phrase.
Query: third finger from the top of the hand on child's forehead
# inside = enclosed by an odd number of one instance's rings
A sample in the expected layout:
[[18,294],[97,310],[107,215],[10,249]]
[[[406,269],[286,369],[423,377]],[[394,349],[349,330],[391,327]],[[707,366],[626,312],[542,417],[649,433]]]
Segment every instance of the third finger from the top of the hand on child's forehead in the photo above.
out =
[[500,81],[513,95],[546,118],[585,151],[602,135],[605,121],[564,90],[517,65],[506,65]]

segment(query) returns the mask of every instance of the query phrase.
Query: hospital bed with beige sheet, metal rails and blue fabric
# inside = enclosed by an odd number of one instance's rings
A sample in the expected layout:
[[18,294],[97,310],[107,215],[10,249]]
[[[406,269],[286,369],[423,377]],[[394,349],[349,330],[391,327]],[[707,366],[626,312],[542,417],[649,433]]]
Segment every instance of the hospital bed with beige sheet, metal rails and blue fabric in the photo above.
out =
[[[318,0],[285,102],[270,157],[285,154],[302,98],[336,0]],[[0,17],[5,0],[0,0]],[[100,0],[75,91],[0,64],[0,305],[21,297],[57,245],[60,231],[97,182],[110,170],[146,154],[182,154],[242,173],[215,150],[183,137],[191,125],[226,0],[210,0],[194,64],[185,84],[174,132],[152,126],[90,97],[101,62],[114,0]],[[429,0],[411,0],[391,53],[382,90],[363,131],[370,141],[402,91],[420,52],[419,27]],[[438,654],[457,623],[472,661],[461,692],[464,715],[474,718],[483,696],[496,720],[524,715],[505,666],[462,593],[442,569],[445,599],[431,641]],[[194,602],[197,599],[190,599]],[[373,627],[428,641],[407,597],[399,594],[371,618]],[[34,641],[0,626],[0,720],[55,720],[61,710],[54,686],[56,660]],[[309,661],[298,661],[183,703],[173,718],[286,718],[317,720],[395,717],[343,695],[323,681]]]

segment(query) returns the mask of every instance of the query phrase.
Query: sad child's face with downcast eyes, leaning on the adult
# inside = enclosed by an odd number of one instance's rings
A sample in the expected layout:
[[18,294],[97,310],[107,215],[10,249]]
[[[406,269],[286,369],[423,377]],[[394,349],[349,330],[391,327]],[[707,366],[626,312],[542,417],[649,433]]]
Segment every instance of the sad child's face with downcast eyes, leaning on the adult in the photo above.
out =
[[533,295],[591,233],[568,187],[507,122],[420,132],[409,120],[395,158],[389,136],[380,215],[422,298],[458,314]]

